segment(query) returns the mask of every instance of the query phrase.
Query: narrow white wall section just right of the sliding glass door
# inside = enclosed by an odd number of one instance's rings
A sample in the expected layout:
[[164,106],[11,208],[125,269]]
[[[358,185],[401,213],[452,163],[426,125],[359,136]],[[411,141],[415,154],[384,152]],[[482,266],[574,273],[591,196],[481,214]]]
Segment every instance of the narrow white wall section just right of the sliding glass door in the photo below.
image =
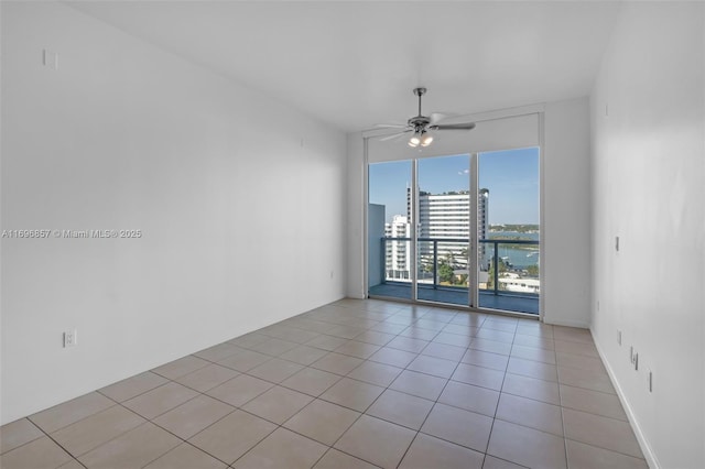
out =
[[541,166],[544,321],[589,326],[590,183],[587,98],[546,103]]

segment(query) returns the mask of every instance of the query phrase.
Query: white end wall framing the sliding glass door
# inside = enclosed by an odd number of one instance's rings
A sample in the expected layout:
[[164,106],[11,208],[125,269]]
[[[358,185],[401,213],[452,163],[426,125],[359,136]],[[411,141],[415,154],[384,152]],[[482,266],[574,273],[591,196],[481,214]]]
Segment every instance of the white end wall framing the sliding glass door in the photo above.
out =
[[[531,110],[529,118],[507,119],[518,122],[518,132],[507,139],[508,148],[521,146],[521,142],[540,142],[540,129],[535,112],[543,112],[544,146],[541,155],[542,192],[542,307],[544,320],[550,324],[588,327],[589,325],[589,106],[587,98],[549,102],[516,110],[519,114]],[[497,111],[495,114],[507,114]],[[481,116],[478,116],[481,118]],[[496,116],[495,116],[496,117]],[[502,121],[495,121],[502,122]],[[527,124],[527,126],[524,126]],[[532,129],[533,131],[527,131]],[[479,124],[478,124],[479,128]],[[533,134],[532,134],[533,132]],[[480,139],[481,148],[496,149],[502,138],[501,128],[492,128]],[[445,137],[444,137],[445,139]],[[399,141],[394,142],[397,145]],[[466,145],[474,144],[475,141]],[[478,143],[480,144],[480,143]],[[372,143],[370,143],[370,146]],[[387,149],[390,159],[400,159],[402,151],[390,149],[390,143],[373,143],[378,153]],[[524,143],[525,145],[525,143]],[[406,145],[401,142],[401,148]],[[432,150],[436,151],[436,150]],[[453,150],[448,150],[453,151]],[[457,150],[457,146],[455,149]],[[406,151],[406,154],[409,152]],[[365,204],[365,150],[361,134],[348,135],[348,296],[366,294],[362,281],[365,254],[362,252]],[[379,156],[379,155],[378,155]],[[414,157],[411,153],[408,157]]]

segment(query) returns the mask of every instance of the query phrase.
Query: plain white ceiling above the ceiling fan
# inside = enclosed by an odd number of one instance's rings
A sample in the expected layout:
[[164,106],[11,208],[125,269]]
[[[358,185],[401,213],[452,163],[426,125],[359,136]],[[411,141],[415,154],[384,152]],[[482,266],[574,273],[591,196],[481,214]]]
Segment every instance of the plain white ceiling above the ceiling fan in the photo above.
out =
[[585,96],[618,2],[80,1],[344,131]]

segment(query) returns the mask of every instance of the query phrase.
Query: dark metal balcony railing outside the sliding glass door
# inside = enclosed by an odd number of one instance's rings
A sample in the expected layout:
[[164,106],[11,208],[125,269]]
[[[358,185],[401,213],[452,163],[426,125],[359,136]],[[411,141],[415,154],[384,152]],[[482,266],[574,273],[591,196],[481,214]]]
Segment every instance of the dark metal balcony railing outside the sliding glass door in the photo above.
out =
[[[411,249],[400,250],[398,246],[395,247],[397,248],[395,251],[392,250],[388,253],[387,243],[392,241],[409,243],[406,244],[406,247],[410,248],[410,243],[412,239],[411,238],[391,238],[391,237],[381,238],[381,242],[382,242],[382,246],[381,246],[382,264],[381,265],[384,266],[382,283],[409,282],[409,279],[410,279],[409,274],[406,274],[405,277],[388,275],[387,268],[390,266],[389,263],[391,262],[388,259],[388,254],[397,254],[398,258],[402,254],[405,255],[406,265],[409,266],[409,269],[411,269],[411,262],[410,262],[411,259],[409,258],[411,255]],[[500,295],[500,294],[522,295],[523,294],[532,297],[538,296],[540,292],[540,284],[538,279],[538,268],[539,268],[538,258],[535,263],[530,263],[529,265],[525,265],[525,264],[516,265],[513,262],[511,262],[509,258],[505,258],[499,254],[500,254],[500,247],[503,246],[505,249],[513,249],[514,251],[525,250],[527,257],[532,257],[538,254],[539,251],[535,249],[531,249],[531,248],[527,249],[523,247],[529,247],[529,246],[538,247],[539,241],[481,239],[479,240],[479,243],[480,243],[480,252],[478,253],[478,255],[480,255],[480,260],[478,262],[480,264],[480,273],[486,272],[487,275],[490,275],[490,272],[491,272],[491,281],[492,281],[491,287],[488,288],[486,285],[485,288],[480,288],[481,292],[485,292],[485,293],[491,292],[495,295]],[[430,247],[425,248],[424,244],[429,244]],[[446,248],[440,250],[438,249],[440,244],[446,244]],[[431,266],[432,266],[432,272],[429,272],[432,274],[431,277],[424,275],[425,271],[419,272],[417,277],[419,277],[420,284],[423,283],[424,286],[433,287],[433,290],[438,290],[438,288],[458,290],[458,288],[468,287],[467,283],[466,285],[463,286],[463,285],[442,285],[438,282],[440,281],[440,274],[438,274],[440,255],[445,255],[448,259],[448,261],[453,263],[452,265],[453,268],[463,268],[465,265],[465,269],[467,269],[467,262],[468,262],[467,248],[469,247],[469,242],[467,238],[419,238],[417,246],[419,246],[419,258],[423,259],[423,258],[430,257]],[[460,248],[462,246],[465,246],[465,248]],[[443,248],[443,246],[441,246],[441,248]],[[489,258],[487,257],[488,248],[491,249],[491,255]],[[463,250],[465,251],[464,253],[462,252]],[[459,259],[456,257],[458,254],[460,254]],[[489,265],[486,264],[487,261],[489,261]],[[397,260],[397,262],[399,262],[399,259]],[[528,271],[534,265],[535,265],[535,274],[529,275]],[[391,265],[391,266],[394,268],[398,265]],[[500,275],[500,271],[502,269],[505,270],[505,275]],[[391,270],[394,270],[397,272],[402,272],[398,269],[391,269]],[[487,280],[489,280],[489,277]],[[487,282],[479,282],[479,279],[478,279],[478,283],[487,284]],[[505,285],[505,290],[501,288],[502,284]]]

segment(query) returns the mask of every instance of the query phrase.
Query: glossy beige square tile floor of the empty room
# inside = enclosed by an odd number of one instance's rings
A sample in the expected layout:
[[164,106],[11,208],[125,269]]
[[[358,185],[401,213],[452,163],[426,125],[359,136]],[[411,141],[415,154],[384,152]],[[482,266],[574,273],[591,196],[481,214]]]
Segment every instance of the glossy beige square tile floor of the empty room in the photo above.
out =
[[13,468],[646,468],[589,331],[341,299],[1,428]]

